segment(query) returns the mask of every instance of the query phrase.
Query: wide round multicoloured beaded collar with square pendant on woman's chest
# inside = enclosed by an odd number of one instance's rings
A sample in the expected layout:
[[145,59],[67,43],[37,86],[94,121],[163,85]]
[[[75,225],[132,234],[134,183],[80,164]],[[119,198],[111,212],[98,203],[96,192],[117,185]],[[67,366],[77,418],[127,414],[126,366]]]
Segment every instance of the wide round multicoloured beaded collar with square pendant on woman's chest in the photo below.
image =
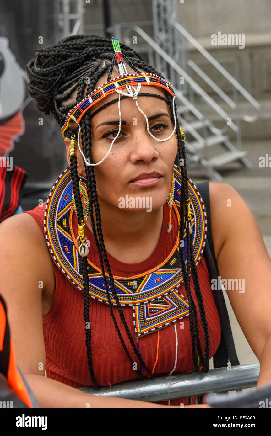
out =
[[[181,193],[181,173],[174,167],[174,201],[179,221],[179,205]],[[196,186],[188,180],[191,202],[191,227],[193,255],[196,265],[199,263],[205,243],[207,221],[205,206]],[[51,255],[58,268],[65,276],[83,291],[81,256],[76,243],[77,233],[72,228],[74,206],[72,202],[72,179],[67,167],[55,181],[48,195],[45,207],[45,238]],[[184,232],[184,254],[187,262],[186,229]],[[177,287],[182,284],[182,270],[178,256],[179,234],[168,257],[160,265],[130,277],[113,276],[115,290],[122,306],[134,307],[134,327],[136,336],[151,333],[165,327],[189,314],[188,302],[181,296]],[[89,268],[89,294],[92,298],[108,304],[101,270],[87,259]],[[190,271],[189,271],[190,274]],[[106,273],[106,281],[110,290],[110,282]],[[135,282],[136,285],[135,286]],[[116,305],[113,294],[110,300]]]

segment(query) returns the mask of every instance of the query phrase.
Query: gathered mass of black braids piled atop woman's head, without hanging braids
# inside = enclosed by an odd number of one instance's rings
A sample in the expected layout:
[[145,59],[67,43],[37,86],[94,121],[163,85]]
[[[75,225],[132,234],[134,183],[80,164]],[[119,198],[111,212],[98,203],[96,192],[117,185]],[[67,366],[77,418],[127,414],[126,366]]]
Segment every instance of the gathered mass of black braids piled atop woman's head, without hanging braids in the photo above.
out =
[[[140,58],[131,48],[120,46],[127,57]],[[73,106],[75,99],[82,95],[83,84],[79,82],[90,75],[95,85],[100,65],[108,61],[105,70],[109,69],[113,56],[112,41],[99,35],[69,35],[49,47],[38,48],[26,65],[28,92],[38,109],[46,115],[52,113],[62,126],[69,112],[67,105]]]

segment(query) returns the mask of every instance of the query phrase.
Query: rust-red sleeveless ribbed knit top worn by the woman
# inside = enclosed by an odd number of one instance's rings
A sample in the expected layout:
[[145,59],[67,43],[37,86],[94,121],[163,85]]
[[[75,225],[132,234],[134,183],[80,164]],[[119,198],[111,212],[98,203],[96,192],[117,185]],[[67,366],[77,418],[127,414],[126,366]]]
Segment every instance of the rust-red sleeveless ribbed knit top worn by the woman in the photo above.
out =
[[[44,232],[43,220],[45,203],[41,206],[37,206],[31,211],[27,211],[26,213],[32,215],[32,217],[38,222],[42,232]],[[113,275],[129,277],[139,274],[140,272],[144,272],[158,265],[166,258],[166,256],[168,256],[174,246],[178,231],[178,221],[174,209],[172,210],[172,231],[170,233],[166,232],[168,218],[169,209],[167,203],[165,203],[163,225],[158,245],[151,256],[143,262],[135,264],[123,263],[114,259],[109,253],[107,253]],[[73,229],[75,235],[78,234],[76,231],[77,224],[76,215],[73,214]],[[86,228],[86,236],[90,241],[89,259],[99,267],[98,251],[94,242],[93,234],[88,228]],[[49,312],[43,315],[47,376],[74,388],[91,386],[93,383],[89,373],[86,354],[83,293],[70,283],[53,259],[52,262],[55,270],[55,294]],[[209,327],[209,357],[211,358],[220,344],[221,327],[209,283],[206,261],[203,255],[197,266],[197,272]],[[190,287],[198,309],[199,307],[196,301],[191,276]],[[187,298],[183,283],[179,286],[178,291]],[[134,359],[134,362],[137,362],[137,368],[140,368],[140,362],[134,353],[124,326],[120,320],[117,307],[115,306],[113,307],[113,313],[120,327],[127,349]],[[136,344],[133,324],[133,308],[123,307],[123,313]],[[199,336],[203,351],[203,330],[201,327],[199,311],[198,319]],[[190,372],[195,368],[192,359],[189,317],[183,318],[182,321],[184,322],[184,328],[182,329],[180,328],[180,321],[177,321],[176,323],[178,358],[175,371],[172,373],[173,375]],[[122,381],[136,379],[138,377],[137,372],[134,371],[129,358],[122,347],[110,315],[108,304],[100,303],[99,301],[90,298],[90,325],[92,333],[91,345],[93,368],[99,385],[114,385]],[[158,332],[147,334],[138,339],[141,356],[150,370],[153,369],[156,361],[157,340]],[[168,375],[172,371],[175,364],[175,346],[176,337],[174,324],[170,324],[169,326],[160,329],[158,360],[154,369],[155,375]],[[148,376],[148,373],[144,368],[142,369],[142,373],[143,375]],[[194,397],[192,397],[192,402],[194,404]],[[159,403],[168,404],[168,401],[162,401]],[[185,405],[189,404],[189,398],[175,399],[170,402],[171,405],[180,405],[180,403],[184,403]]]

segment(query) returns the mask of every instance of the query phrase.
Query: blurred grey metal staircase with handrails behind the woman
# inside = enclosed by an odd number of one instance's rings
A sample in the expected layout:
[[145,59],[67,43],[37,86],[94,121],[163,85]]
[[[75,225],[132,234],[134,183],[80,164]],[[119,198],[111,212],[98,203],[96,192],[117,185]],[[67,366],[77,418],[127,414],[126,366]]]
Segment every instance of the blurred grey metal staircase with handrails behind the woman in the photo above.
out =
[[[179,24],[176,20],[175,0],[152,0],[153,7],[153,34],[151,38],[142,27],[132,23],[124,27],[117,24],[112,26],[112,33],[119,37],[126,45],[132,45],[131,35],[138,36],[141,48],[138,52],[148,53],[148,62],[174,86],[176,104],[179,108],[178,118],[186,135],[185,146],[188,155],[189,169],[205,168],[209,177],[222,181],[223,177],[218,169],[230,162],[239,162],[242,166],[250,168],[247,160],[247,151],[242,150],[240,131],[240,111],[238,109],[238,93],[256,109],[254,116],[244,115],[242,119],[248,123],[256,121],[261,112],[261,106],[256,100],[230,75],[202,46]],[[215,82],[212,81],[189,58],[188,42],[213,65],[233,88],[233,97],[226,95]],[[180,66],[182,65],[182,67]],[[223,102],[230,107],[226,112],[210,95],[208,95],[192,78],[196,72]],[[180,84],[182,78],[182,84]],[[225,105],[224,105],[225,106]],[[219,119],[223,120],[223,128],[218,129],[206,116],[213,111]],[[234,116],[232,115],[232,112]],[[231,115],[230,115],[231,114]],[[236,137],[236,146],[229,140],[227,130],[231,129]],[[211,153],[210,153],[211,152]]]

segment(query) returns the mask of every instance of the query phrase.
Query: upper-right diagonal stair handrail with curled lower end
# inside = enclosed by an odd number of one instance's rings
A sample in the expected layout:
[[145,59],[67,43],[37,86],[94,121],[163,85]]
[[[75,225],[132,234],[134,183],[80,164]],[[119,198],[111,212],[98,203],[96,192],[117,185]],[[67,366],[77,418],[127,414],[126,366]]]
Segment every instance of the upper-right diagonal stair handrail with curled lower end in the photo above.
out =
[[[184,27],[182,27],[182,25],[180,23],[175,21],[173,19],[173,17],[171,17],[171,19],[170,19],[170,24],[173,27],[175,27],[175,29],[180,34],[182,34],[182,36],[185,37],[187,39],[187,41],[189,41],[234,86],[234,88],[236,88],[240,92],[240,94],[242,94],[244,96],[244,98],[247,99],[248,102],[250,102],[250,104],[252,106],[254,106],[257,113],[254,116],[244,115],[242,117],[242,119],[244,119],[244,121],[247,121],[247,123],[253,123],[254,121],[256,121],[261,114],[261,105],[252,97],[252,95],[249,94],[249,92],[247,92],[246,89],[243,88],[242,85],[240,85],[239,82],[237,82],[237,80],[229,72],[227,72],[227,70],[225,68],[222,67],[222,65],[220,65],[219,62],[216,61],[215,58],[213,58],[213,56],[211,54],[208,53],[208,51],[205,50],[205,48],[203,48],[199,44],[198,41],[196,41],[195,38],[192,37],[192,35],[189,34],[188,31],[185,30]],[[199,70],[197,71],[197,73],[202,77],[203,80],[205,80],[203,75],[201,74],[201,72]],[[212,85],[210,85],[210,86],[212,86]],[[220,91],[223,92],[221,89],[220,89]],[[219,95],[220,94],[221,93],[219,93]],[[222,97],[222,95],[220,95],[220,96]]]

